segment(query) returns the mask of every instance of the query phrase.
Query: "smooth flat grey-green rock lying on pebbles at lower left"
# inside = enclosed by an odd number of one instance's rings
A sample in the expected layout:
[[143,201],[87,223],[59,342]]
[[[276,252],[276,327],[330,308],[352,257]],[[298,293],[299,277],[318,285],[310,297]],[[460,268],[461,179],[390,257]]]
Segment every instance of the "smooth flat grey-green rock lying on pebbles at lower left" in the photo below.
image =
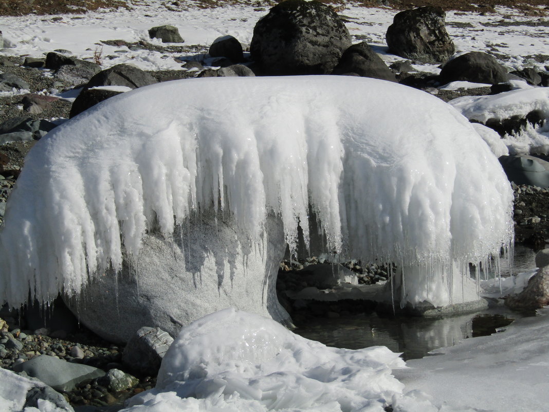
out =
[[93,366],[70,363],[48,355],[39,355],[27,360],[14,366],[13,370],[36,377],[60,392],[71,391],[82,381],[105,375],[104,371]]

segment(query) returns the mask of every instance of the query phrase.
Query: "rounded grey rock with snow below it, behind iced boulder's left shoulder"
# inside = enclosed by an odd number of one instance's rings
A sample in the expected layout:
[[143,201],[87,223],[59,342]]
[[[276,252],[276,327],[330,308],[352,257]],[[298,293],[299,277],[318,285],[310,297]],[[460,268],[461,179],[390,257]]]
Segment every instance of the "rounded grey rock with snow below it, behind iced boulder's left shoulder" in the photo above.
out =
[[117,64],[109,69],[100,71],[98,74],[89,79],[86,89],[98,86],[126,86],[130,88],[138,88],[148,85],[153,85],[158,81],[136,66],[131,64]]

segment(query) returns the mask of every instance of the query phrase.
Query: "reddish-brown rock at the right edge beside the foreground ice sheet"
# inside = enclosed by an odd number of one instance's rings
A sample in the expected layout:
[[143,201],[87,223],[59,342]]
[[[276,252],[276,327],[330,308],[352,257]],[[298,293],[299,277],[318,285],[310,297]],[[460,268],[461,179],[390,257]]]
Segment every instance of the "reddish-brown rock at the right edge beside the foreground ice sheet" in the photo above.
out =
[[516,310],[541,309],[549,304],[549,266],[540,268],[520,293],[508,296],[505,305]]

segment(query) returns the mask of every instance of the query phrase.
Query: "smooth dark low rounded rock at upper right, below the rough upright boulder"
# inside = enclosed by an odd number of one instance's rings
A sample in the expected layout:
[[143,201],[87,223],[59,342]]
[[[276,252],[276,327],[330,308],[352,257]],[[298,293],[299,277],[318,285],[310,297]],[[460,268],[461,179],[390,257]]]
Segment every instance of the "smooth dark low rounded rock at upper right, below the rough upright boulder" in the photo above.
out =
[[439,79],[441,83],[463,80],[495,85],[507,81],[507,71],[491,55],[470,52],[447,62],[440,71]]

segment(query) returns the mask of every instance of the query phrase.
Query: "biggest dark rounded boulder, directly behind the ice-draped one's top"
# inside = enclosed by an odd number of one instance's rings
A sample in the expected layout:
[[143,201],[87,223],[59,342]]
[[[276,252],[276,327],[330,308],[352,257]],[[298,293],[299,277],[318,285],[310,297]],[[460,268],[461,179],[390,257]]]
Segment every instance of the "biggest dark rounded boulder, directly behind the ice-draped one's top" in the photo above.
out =
[[268,75],[329,74],[349,46],[349,31],[332,8],[287,0],[257,21],[250,53]]

